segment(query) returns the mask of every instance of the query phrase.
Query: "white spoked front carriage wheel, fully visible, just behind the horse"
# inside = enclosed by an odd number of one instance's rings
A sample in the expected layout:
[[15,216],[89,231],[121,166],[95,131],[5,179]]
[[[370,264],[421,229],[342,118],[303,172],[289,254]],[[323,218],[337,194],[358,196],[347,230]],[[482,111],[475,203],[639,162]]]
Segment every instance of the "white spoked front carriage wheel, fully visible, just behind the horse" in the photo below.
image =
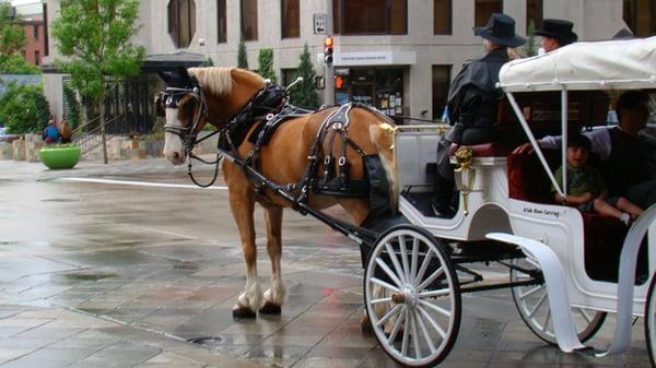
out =
[[460,327],[460,289],[444,246],[429,232],[400,225],[378,238],[364,298],[376,340],[396,361],[429,367],[450,352]]

